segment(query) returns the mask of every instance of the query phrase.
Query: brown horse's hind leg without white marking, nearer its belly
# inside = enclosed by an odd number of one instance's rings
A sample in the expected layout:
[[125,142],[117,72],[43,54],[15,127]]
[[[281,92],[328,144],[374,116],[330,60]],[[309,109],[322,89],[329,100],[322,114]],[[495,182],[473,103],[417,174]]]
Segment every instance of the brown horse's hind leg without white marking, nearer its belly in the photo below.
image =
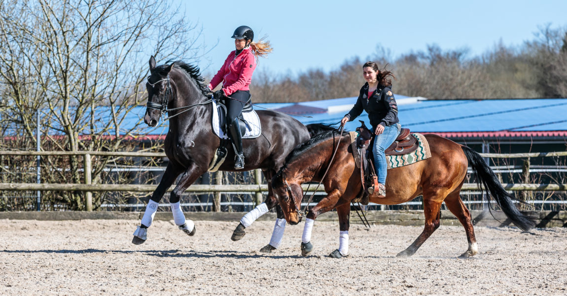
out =
[[[431,196],[431,195],[429,195]],[[435,194],[437,196],[437,194]],[[431,200],[424,192],[424,213],[425,213],[425,227],[420,236],[404,251],[401,251],[396,257],[409,257],[417,252],[417,249],[433,234],[433,231],[439,228],[441,220],[441,204],[442,201]]]

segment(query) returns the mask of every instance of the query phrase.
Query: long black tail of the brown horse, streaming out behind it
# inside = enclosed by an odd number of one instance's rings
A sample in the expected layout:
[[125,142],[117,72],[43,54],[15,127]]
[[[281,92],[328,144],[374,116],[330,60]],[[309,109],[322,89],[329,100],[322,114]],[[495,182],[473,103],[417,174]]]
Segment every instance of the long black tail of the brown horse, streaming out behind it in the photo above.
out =
[[[518,198],[506,192],[502,187],[496,174],[484,162],[484,159],[475,150],[467,146],[461,146],[464,154],[467,155],[469,166],[477,176],[477,184],[482,189],[481,183],[484,184],[486,189],[486,199],[490,201],[490,197],[496,200],[497,204],[502,208],[506,216],[514,222],[514,225],[519,229],[527,231],[535,227],[535,212],[520,211],[514,205],[513,201],[519,201]],[[490,204],[489,204],[490,205]]]

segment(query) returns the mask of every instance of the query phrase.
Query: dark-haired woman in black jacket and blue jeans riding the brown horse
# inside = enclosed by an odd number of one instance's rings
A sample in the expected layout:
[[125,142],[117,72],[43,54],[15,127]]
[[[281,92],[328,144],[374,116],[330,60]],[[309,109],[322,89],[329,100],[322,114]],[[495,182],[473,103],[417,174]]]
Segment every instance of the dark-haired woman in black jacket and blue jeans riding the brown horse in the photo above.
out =
[[370,125],[376,134],[374,139],[374,165],[378,184],[369,188],[373,193],[378,186],[379,196],[386,197],[386,173],[388,164],[386,163],[386,150],[400,134],[400,121],[397,119],[397,104],[392,94],[392,78],[395,79],[391,71],[378,69],[375,62],[366,62],[362,66],[363,76],[366,83],[360,89],[360,94],[354,107],[341,120],[344,125],[347,121],[353,121],[362,111],[368,113]]

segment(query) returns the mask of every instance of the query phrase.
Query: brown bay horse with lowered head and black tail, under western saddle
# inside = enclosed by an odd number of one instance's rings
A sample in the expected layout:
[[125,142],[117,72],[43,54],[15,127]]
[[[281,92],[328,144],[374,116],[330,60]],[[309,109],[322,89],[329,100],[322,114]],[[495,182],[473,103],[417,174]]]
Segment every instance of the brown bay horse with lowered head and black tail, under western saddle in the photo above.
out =
[[[515,226],[529,230],[535,226],[532,212],[520,212],[513,204],[518,201],[505,191],[497,176],[474,150],[435,134],[424,135],[429,142],[431,157],[408,166],[388,170],[386,197],[370,198],[371,202],[382,205],[397,205],[423,196],[425,227],[418,238],[397,257],[412,256],[418,248],[439,227],[441,204],[447,208],[464,226],[467,234],[468,250],[460,257],[471,257],[478,252],[475,232],[471,223],[471,213],[460,198],[460,189],[471,166],[477,176],[477,183],[484,184],[486,196],[496,200],[506,216]],[[356,168],[353,155],[347,151],[350,145],[348,134],[339,142],[338,130],[321,133],[291,151],[286,164],[272,179],[274,195],[280,202],[285,219],[291,225],[301,221],[299,209],[303,198],[301,184],[307,181],[321,181],[325,196],[309,210],[304,227],[301,250],[307,256],[312,251],[311,228],[314,220],[325,212],[337,210],[340,227],[340,246],[329,256],[348,255],[348,230],[350,202],[362,192],[359,168]],[[339,142],[338,148],[337,142]],[[334,150],[335,158],[332,163]],[[327,167],[328,174],[323,178]],[[488,194],[490,193],[490,194]],[[310,221],[311,220],[311,221]]]

